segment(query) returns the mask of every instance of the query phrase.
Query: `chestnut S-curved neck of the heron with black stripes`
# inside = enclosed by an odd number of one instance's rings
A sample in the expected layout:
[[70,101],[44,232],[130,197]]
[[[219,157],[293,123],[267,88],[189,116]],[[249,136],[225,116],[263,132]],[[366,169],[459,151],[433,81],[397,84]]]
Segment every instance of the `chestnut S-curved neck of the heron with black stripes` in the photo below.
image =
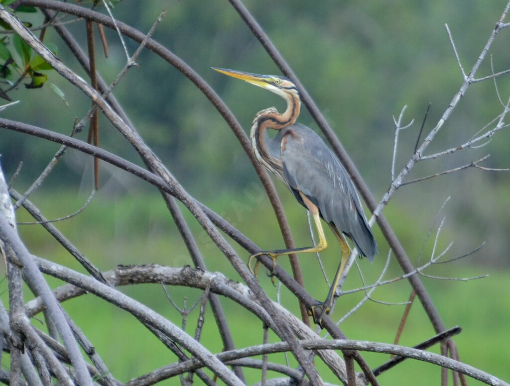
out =
[[296,122],[301,111],[301,101],[297,95],[290,93],[285,94],[285,99],[287,109],[283,114],[278,113],[274,107],[266,108],[255,115],[250,130],[251,148],[255,157],[282,181],[284,181],[282,158],[270,154],[266,146],[269,137],[264,134],[268,128],[279,130]]

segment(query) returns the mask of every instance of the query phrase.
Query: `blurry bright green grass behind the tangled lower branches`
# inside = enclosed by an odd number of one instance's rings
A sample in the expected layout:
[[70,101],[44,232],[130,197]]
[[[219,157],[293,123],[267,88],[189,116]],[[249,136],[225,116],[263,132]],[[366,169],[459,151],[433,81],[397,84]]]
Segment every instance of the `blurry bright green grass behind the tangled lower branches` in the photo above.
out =
[[[289,199],[288,195],[282,197],[285,200]],[[206,204],[225,216],[255,242],[269,249],[282,246],[274,215],[266,200],[259,200],[254,195],[247,196],[246,194],[239,197],[220,195],[214,200],[214,202]],[[72,212],[80,206],[79,199],[68,192],[54,191],[51,196],[41,195],[35,201],[48,218]],[[285,203],[285,207],[288,210],[296,244],[299,246],[310,244],[304,210],[290,200]],[[237,274],[215,249],[214,244],[203,235],[201,228],[192,220],[186,210],[183,212],[186,218],[191,219],[190,226],[197,237],[208,269],[221,271],[233,280],[238,280]],[[19,211],[17,216],[20,221],[28,218],[22,211]],[[397,228],[403,227],[402,224],[409,224],[410,221],[405,218],[404,211],[402,213],[393,212],[389,216],[400,216]],[[166,207],[160,197],[154,193],[145,195],[143,199],[133,199],[131,196],[112,199],[104,197],[99,192],[98,197],[83,213],[58,223],[57,227],[94,264],[103,270],[113,268],[117,264],[160,263],[169,266],[191,264],[186,248],[177,234]],[[407,228],[406,232],[411,233],[410,227]],[[21,226],[20,231],[32,253],[83,272],[83,269],[68,256],[62,247],[48,237],[40,227]],[[402,232],[402,242],[407,245],[408,251],[417,251],[418,253],[422,246],[417,244],[416,240],[423,242],[426,233],[423,235],[411,234],[407,237],[406,232]],[[446,236],[444,238],[448,239]],[[414,239],[413,245],[409,245],[411,239]],[[424,259],[430,249],[431,243],[429,242],[425,247]],[[330,247],[322,254],[326,272],[330,277],[339,262],[338,254],[339,250],[334,243],[330,243]],[[387,247],[380,242],[379,255],[373,264],[369,264],[366,260],[359,261],[367,283],[377,278],[384,266],[386,254]],[[483,256],[483,252],[480,254]],[[243,251],[240,251],[240,256],[243,259],[247,258],[247,254]],[[307,289],[316,298],[324,298],[327,286],[322,280],[315,256],[301,256],[300,261]],[[288,269],[285,257],[279,259],[279,263]],[[345,289],[357,288],[362,285],[359,274],[355,270],[354,267]],[[458,324],[463,328],[463,333],[454,338],[460,351],[461,360],[503,380],[510,380],[510,351],[507,345],[510,338],[508,332],[510,324],[508,271],[498,271],[493,268],[485,270],[479,265],[473,267],[468,262],[461,260],[433,267],[430,272],[444,277],[458,278],[490,274],[489,278],[469,282],[439,281],[427,278],[424,278],[423,281],[438,307],[445,325],[451,327]],[[392,260],[386,278],[393,278],[399,274],[400,269]],[[260,281],[268,294],[272,298],[276,298],[276,288],[265,277],[263,270],[261,270]],[[50,283],[53,286],[58,285],[56,280],[50,280]],[[5,281],[0,286],[2,286],[0,292],[3,292],[2,299],[7,305],[8,294]],[[168,287],[167,289],[177,304],[183,305],[183,299],[186,298],[188,307],[200,296],[199,291],[188,288]],[[121,290],[169,318],[175,324],[181,325],[182,317],[170,305],[161,286],[142,285]],[[410,287],[406,281],[402,280],[379,287],[373,297],[385,302],[403,302],[407,300],[409,294]],[[341,317],[355,306],[362,296],[363,293],[360,292],[342,296],[337,302],[334,317],[337,319]],[[232,301],[221,300],[237,346],[260,344],[263,336],[262,323]],[[282,302],[297,314],[297,302],[285,289],[282,291]],[[175,361],[174,355],[169,353],[132,316],[92,295],[69,300],[65,302],[64,308],[83,328],[114,376],[122,381],[127,381]],[[350,339],[391,343],[402,312],[403,306],[389,306],[368,301],[358,312],[347,318],[340,327]],[[194,334],[197,315],[198,311],[194,310],[186,320],[186,330],[191,335]],[[400,343],[413,346],[434,334],[424,311],[416,300]],[[275,339],[274,336],[273,339]],[[206,315],[201,341],[212,352],[222,350],[210,310]],[[432,351],[439,352],[439,348],[434,347]],[[389,357],[389,355],[375,353],[364,353],[363,356],[371,367],[378,366]],[[283,354],[272,355],[270,360],[285,361]],[[329,374],[320,361],[316,361],[316,363],[324,374]],[[291,359],[292,364],[295,365]],[[248,383],[260,380],[260,371],[247,370],[246,374]],[[324,378],[326,381],[335,381],[329,375]],[[380,376],[381,384],[438,384],[439,379],[439,368],[411,360],[405,361],[397,368]],[[478,383],[469,380],[470,385]],[[176,381],[168,380],[162,384],[176,384]]]

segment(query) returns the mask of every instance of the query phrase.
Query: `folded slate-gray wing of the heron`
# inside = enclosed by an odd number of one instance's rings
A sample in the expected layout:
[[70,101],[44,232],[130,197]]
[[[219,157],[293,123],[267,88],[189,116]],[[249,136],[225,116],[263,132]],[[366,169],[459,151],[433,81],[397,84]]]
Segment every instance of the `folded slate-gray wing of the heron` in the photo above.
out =
[[312,129],[295,124],[283,130],[284,175],[294,196],[302,203],[297,190],[301,191],[327,223],[349,236],[360,255],[372,261],[377,244],[345,168]]

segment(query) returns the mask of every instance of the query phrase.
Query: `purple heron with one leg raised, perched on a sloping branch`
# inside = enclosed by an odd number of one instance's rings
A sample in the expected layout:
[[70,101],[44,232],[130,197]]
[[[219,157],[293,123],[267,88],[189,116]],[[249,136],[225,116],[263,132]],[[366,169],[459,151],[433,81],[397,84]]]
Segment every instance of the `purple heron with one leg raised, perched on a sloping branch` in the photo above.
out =
[[[315,322],[320,324],[324,312],[329,312],[333,305],[333,295],[351,252],[344,235],[352,240],[360,256],[366,256],[370,262],[377,254],[377,244],[363,212],[358,192],[340,160],[319,135],[312,129],[295,123],[299,116],[301,99],[290,79],[224,68],[213,69],[269,90],[287,101],[287,109],[282,114],[274,107],[269,107],[255,115],[250,130],[251,147],[259,162],[278,177],[296,200],[310,211],[319,241],[311,247],[256,253],[250,256],[248,267],[256,273],[258,262],[254,271],[250,262],[261,255],[269,256],[276,264],[276,258],[280,255],[323,251],[327,242],[321,225],[322,218],[340,242],[342,258],[326,300],[311,310]],[[267,129],[278,132],[271,139]],[[316,314],[317,307],[320,311]]]

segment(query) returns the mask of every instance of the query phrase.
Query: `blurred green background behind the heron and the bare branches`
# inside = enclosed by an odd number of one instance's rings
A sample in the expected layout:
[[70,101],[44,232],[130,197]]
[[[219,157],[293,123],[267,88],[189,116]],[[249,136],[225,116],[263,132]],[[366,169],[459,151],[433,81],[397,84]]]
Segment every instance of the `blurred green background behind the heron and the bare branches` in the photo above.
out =
[[[404,122],[414,125],[400,133],[397,172],[414,149],[416,137],[428,103],[430,113],[424,133],[437,123],[451,98],[462,84],[461,71],[455,61],[445,32],[448,23],[463,66],[468,72],[486,44],[499,19],[504,2],[494,1],[392,1],[354,2],[323,1],[246,1],[245,5],[281,50],[283,56],[322,109],[331,127],[359,168],[376,199],[390,184],[394,124],[407,105]],[[244,82],[226,78],[210,69],[212,66],[243,71],[279,74],[265,50],[260,46],[235,10],[227,2],[124,0],[114,13],[123,22],[147,32],[159,13],[167,13],[154,38],[191,65],[232,109],[246,131],[252,117],[262,108],[284,102],[273,94],[250,87]],[[27,15],[40,23],[40,15]],[[69,30],[86,47],[83,22],[68,24]],[[110,57],[105,59],[98,47],[98,69],[110,82],[122,68],[125,56],[118,37],[106,31]],[[494,70],[509,67],[508,39],[510,31],[497,36],[491,57]],[[59,56],[84,78],[86,75],[60,43],[53,31],[46,42],[59,46]],[[126,40],[133,52],[137,45]],[[488,57],[478,77],[491,74]],[[219,114],[207,99],[180,72],[153,53],[144,50],[115,89],[115,95],[147,144],[160,156],[173,175],[196,199],[223,215],[260,246],[271,249],[282,246],[281,237],[268,200],[247,158]],[[66,107],[48,87],[11,93],[21,103],[3,112],[9,119],[32,123],[61,133],[69,133],[74,118],[88,110],[90,102],[67,85],[56,73],[48,72],[50,81],[65,93]],[[507,77],[498,78],[501,99],[510,95]],[[478,130],[503,111],[491,80],[474,84],[444,125],[429,152],[441,151],[468,141]],[[316,129],[310,115],[303,110],[299,121]],[[105,149],[140,163],[123,138],[101,119],[100,141]],[[84,139],[86,134],[82,134]],[[437,160],[424,161],[411,173],[410,179],[469,163],[491,154],[484,166],[508,168],[510,135],[498,132],[487,145],[468,149]],[[0,131],[0,154],[3,170],[11,178],[18,163],[21,173],[13,182],[24,191],[44,168],[58,145]],[[47,218],[55,218],[77,210],[92,188],[92,163],[88,157],[68,150],[54,173],[31,200]],[[308,245],[307,219],[302,208],[276,182],[284,202],[298,245]],[[385,215],[414,263],[423,248],[421,262],[432,250],[438,211],[451,197],[439,218],[446,216],[438,242],[442,251],[453,245],[446,259],[486,244],[476,254],[427,270],[426,273],[448,278],[468,278],[489,274],[488,278],[442,281],[424,278],[447,327],[461,325],[463,333],[455,338],[466,363],[510,380],[510,178],[508,172],[486,172],[468,169],[418,184],[402,187],[394,196]],[[18,219],[29,220],[18,211]],[[193,218],[186,213],[210,270],[225,273],[238,280],[224,257],[215,249]],[[127,173],[101,164],[101,188],[89,207],[80,215],[56,226],[99,268],[108,270],[117,264],[161,263],[171,266],[191,264],[186,248],[171,222],[156,189]],[[432,237],[426,241],[432,229]],[[23,239],[31,252],[80,269],[53,239],[37,226],[20,226]],[[388,253],[379,230],[379,255],[371,265],[361,261],[364,278],[375,280]],[[331,237],[328,233],[326,236]],[[247,259],[246,253],[239,251]],[[336,269],[339,250],[334,243],[323,254],[328,272]],[[302,256],[307,289],[317,298],[325,297],[327,286],[321,279],[314,256]],[[288,268],[285,259],[279,261]],[[387,278],[400,274],[391,261]],[[57,282],[53,282],[57,285]],[[269,279],[261,275],[261,283],[276,296]],[[4,283],[4,290],[7,285]],[[355,268],[347,288],[361,286]],[[126,293],[143,301],[162,315],[179,324],[180,317],[171,307],[159,286],[125,288]],[[199,296],[187,288],[169,288],[174,300],[187,297],[188,305]],[[402,302],[409,297],[406,282],[378,288],[374,298],[386,302]],[[342,316],[360,299],[361,294],[343,296],[337,303],[336,315]],[[2,295],[4,304],[7,293]],[[297,305],[283,291],[282,301],[297,312]],[[262,341],[262,326],[230,301],[224,301],[231,315],[231,327],[238,346]],[[148,372],[174,358],[129,315],[88,295],[66,302],[66,310],[77,318],[86,334],[104,357],[113,374],[120,380]],[[367,302],[348,318],[341,328],[352,339],[392,342],[403,306]],[[189,316],[187,330],[195,326]],[[216,340],[211,315],[207,316],[203,339],[213,352],[222,347]],[[246,334],[248,330],[253,333]],[[433,330],[419,304],[412,308],[401,343],[415,345]],[[127,339],[126,339],[127,335]],[[136,350],[133,349],[136,347]],[[437,348],[436,348],[437,352]],[[140,355],[140,353],[142,355]],[[380,354],[364,354],[373,367],[387,360]],[[282,357],[272,360],[281,361]],[[248,372],[248,381],[260,379],[260,372]],[[437,384],[438,368],[406,361],[381,375],[381,384]],[[333,378],[325,377],[333,381]],[[176,384],[175,380],[163,384]],[[478,384],[470,380],[469,384]]]

